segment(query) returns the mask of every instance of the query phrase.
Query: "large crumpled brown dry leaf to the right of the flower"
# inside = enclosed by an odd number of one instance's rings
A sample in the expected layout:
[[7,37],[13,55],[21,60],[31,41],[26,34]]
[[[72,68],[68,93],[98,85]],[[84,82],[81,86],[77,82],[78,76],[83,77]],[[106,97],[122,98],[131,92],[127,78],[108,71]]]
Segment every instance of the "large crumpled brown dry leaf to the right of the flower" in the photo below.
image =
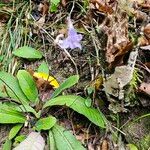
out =
[[108,15],[102,27],[108,36],[106,60],[109,64],[114,62],[116,57],[126,54],[133,47],[133,43],[128,38],[127,14],[120,9],[117,12]]

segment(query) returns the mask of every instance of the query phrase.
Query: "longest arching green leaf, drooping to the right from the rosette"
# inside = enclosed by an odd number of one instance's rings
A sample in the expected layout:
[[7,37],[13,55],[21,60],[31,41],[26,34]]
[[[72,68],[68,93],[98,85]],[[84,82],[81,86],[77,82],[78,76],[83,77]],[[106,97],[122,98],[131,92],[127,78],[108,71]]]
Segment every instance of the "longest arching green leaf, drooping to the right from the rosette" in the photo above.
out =
[[73,110],[77,111],[78,113],[87,117],[91,122],[105,128],[105,123],[102,114],[95,108],[87,107],[86,106],[86,99],[80,96],[74,95],[67,95],[67,96],[58,96],[56,98],[48,100],[44,108],[48,106],[55,106],[55,105],[65,105]]

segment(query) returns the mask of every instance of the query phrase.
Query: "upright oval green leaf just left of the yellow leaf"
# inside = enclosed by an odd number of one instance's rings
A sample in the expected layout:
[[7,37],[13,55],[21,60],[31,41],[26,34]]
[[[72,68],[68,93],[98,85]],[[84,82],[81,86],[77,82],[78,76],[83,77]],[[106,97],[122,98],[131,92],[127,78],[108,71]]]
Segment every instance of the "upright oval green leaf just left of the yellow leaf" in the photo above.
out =
[[26,97],[32,102],[35,103],[38,100],[38,90],[36,88],[36,84],[26,70],[19,70],[17,73],[17,78],[19,81],[19,85],[26,95]]

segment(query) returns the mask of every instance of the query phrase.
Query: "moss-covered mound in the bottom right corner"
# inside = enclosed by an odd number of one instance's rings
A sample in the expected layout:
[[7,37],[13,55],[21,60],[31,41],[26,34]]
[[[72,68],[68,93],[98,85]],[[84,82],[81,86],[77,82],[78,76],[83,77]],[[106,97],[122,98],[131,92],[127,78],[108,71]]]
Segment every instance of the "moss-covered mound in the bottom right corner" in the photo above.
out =
[[129,122],[123,131],[126,133],[126,141],[135,144],[139,150],[148,150],[150,148],[149,116],[138,121]]

